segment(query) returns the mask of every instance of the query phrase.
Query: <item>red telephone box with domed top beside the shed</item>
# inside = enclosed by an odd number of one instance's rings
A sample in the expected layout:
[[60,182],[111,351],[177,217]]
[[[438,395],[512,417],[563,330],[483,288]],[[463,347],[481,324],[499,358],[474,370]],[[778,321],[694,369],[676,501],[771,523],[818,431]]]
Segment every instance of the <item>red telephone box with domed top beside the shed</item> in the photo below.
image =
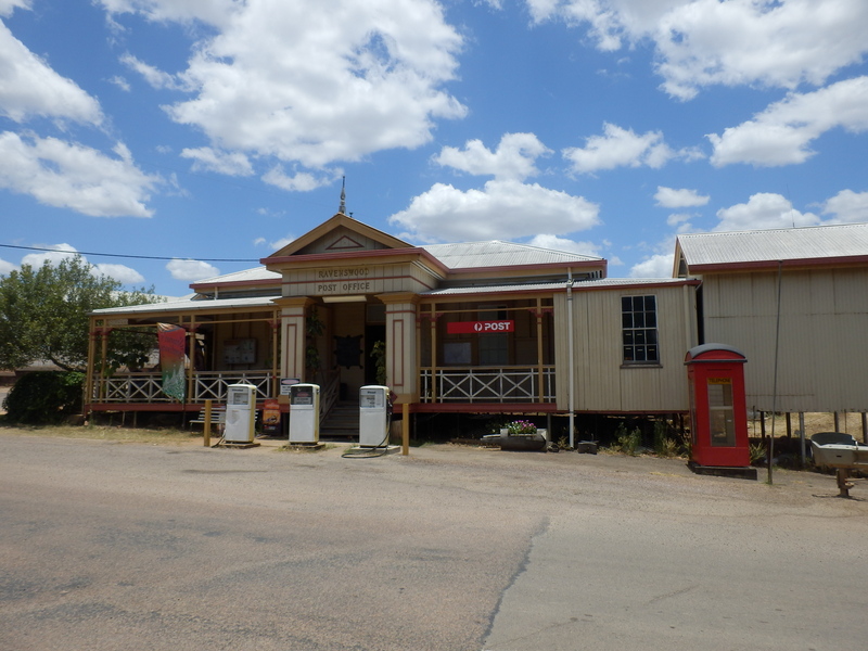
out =
[[751,465],[745,361],[744,354],[724,344],[695,346],[685,357],[690,386],[690,465],[694,471]]

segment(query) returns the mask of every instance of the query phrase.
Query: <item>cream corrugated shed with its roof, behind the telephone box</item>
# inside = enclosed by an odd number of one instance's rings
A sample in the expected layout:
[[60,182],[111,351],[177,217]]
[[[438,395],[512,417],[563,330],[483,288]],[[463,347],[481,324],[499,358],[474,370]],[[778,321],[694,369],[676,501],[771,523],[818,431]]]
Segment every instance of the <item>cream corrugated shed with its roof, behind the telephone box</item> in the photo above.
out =
[[701,342],[751,359],[749,408],[868,410],[868,224],[679,235],[675,275],[702,281]]

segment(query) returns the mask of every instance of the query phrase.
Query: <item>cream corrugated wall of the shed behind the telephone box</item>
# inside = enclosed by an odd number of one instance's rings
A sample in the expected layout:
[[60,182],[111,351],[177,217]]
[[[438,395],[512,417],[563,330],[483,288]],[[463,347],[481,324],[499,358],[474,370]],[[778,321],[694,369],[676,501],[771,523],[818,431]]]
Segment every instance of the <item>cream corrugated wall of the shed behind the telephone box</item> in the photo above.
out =
[[[778,411],[868,410],[868,270],[787,271],[781,280]],[[773,408],[776,271],[706,276],[706,340],[748,356],[748,406]]]

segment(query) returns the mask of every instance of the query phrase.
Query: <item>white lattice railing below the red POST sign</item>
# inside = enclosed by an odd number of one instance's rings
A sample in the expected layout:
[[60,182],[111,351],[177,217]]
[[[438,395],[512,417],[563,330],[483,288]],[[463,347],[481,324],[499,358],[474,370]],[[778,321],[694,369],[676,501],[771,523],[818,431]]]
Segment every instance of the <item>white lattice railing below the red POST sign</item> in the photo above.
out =
[[423,368],[421,380],[423,403],[538,403],[540,382],[542,401],[556,399],[553,366],[541,378],[538,367]]

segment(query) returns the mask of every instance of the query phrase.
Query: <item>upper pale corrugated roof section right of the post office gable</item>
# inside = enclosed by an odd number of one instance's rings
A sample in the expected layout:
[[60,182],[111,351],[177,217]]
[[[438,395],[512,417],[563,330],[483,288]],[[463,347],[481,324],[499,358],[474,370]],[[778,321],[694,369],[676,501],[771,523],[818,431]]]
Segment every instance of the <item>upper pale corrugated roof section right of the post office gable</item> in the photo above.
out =
[[449,269],[603,261],[603,258],[591,255],[540,248],[501,240],[459,244],[424,244],[421,248],[427,251]]

